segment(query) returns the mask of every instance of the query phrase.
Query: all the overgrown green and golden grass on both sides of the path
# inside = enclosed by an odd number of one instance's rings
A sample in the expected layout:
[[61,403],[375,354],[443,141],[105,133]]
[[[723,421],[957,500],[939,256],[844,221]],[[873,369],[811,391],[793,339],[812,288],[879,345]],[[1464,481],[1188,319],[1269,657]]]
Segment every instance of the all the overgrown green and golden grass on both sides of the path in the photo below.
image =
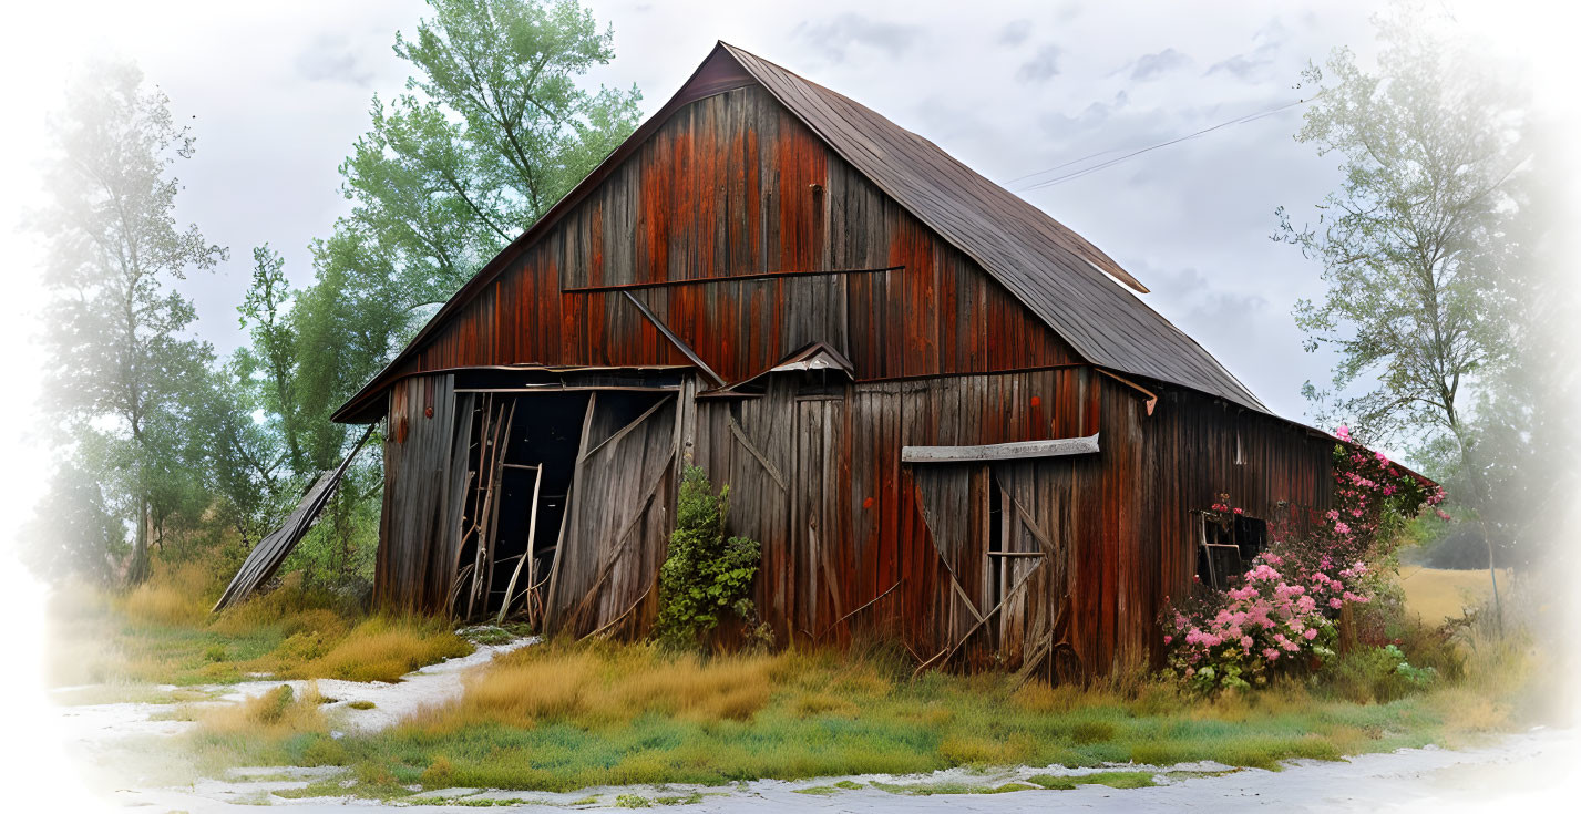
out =
[[[138,700],[204,700],[149,684],[228,683],[255,673],[394,680],[471,646],[443,621],[365,616],[294,578],[210,615],[218,590],[215,575],[185,566],[160,569],[125,594],[65,596],[55,681],[108,683],[74,692],[82,699],[103,700],[123,688]],[[1485,621],[1456,643],[1421,631],[1418,624],[1387,635],[1404,637],[1412,664],[1439,667],[1440,678],[1426,691],[1396,692],[1356,658],[1322,680],[1217,697],[1146,676],[1085,688],[1017,688],[999,673],[912,678],[909,659],[881,648],[699,658],[648,645],[552,642],[500,656],[470,675],[454,702],[384,732],[332,737],[310,686],[194,710],[199,727],[182,743],[207,774],[239,765],[337,765],[356,781],[351,793],[406,798],[414,787],[568,792],[953,767],[1214,760],[1277,768],[1293,757],[1453,746],[1543,713],[1532,702],[1541,692],[1529,689],[1559,672],[1538,669],[1543,650],[1524,627],[1510,624],[1508,634],[1494,635]],[[341,795],[343,781],[319,781],[300,793]],[[1086,782],[1154,781],[1146,771],[1047,773],[980,787],[909,784],[906,793]]]

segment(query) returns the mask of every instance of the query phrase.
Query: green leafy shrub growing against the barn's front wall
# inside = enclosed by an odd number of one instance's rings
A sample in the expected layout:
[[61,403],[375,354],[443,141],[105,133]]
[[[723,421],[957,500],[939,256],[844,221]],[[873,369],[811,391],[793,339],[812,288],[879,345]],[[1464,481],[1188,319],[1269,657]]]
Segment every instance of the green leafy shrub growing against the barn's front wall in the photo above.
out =
[[702,468],[686,468],[670,550],[659,569],[655,637],[666,645],[696,646],[726,613],[753,615],[748,593],[760,552],[756,541],[724,537],[729,498],[730,487],[715,495]]

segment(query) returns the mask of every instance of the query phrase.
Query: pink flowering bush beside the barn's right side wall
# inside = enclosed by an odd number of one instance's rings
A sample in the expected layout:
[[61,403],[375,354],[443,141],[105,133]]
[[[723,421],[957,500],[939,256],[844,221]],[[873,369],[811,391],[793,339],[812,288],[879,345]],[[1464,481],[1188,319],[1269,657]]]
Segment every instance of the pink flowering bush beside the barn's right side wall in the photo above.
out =
[[[1317,531],[1276,529],[1268,552],[1225,591],[1198,594],[1164,613],[1167,672],[1205,691],[1260,686],[1277,672],[1312,670],[1334,654],[1336,620],[1368,604],[1382,575],[1368,566],[1387,552],[1388,517],[1412,517],[1443,499],[1380,452],[1334,447],[1334,501]],[[1213,507],[1230,509],[1227,496]],[[1279,536],[1284,536],[1281,541]]]

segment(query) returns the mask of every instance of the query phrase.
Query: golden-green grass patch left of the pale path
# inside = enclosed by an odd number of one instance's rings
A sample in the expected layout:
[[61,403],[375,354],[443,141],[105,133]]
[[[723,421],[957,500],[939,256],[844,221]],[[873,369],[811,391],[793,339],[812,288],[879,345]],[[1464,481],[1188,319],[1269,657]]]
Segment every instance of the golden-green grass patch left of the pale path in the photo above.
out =
[[[248,678],[395,681],[471,645],[443,620],[367,616],[348,601],[286,575],[275,590],[210,613],[226,575],[201,561],[158,564],[125,593],[76,586],[51,613],[47,680],[108,684],[95,695],[130,700],[149,684],[234,683]],[[115,688],[122,688],[115,699]]]

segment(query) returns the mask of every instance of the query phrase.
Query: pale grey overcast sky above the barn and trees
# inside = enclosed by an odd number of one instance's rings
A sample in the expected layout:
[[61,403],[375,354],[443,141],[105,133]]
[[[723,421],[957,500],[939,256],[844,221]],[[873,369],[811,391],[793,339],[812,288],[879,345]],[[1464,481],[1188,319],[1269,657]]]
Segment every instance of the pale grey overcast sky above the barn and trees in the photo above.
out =
[[[1307,60],[1336,46],[1363,57],[1372,51],[1368,6],[1334,0],[590,5],[613,25],[617,51],[590,81],[639,85],[643,112],[726,40],[889,115],[1018,191],[1300,100],[1309,95],[1296,87]],[[36,155],[41,111],[84,54],[138,60],[198,134],[196,158],[177,168],[180,217],[232,256],[215,273],[196,273],[185,292],[201,334],[229,351],[240,340],[236,305],[251,247],[269,242],[297,285],[311,278],[308,242],[327,236],[348,205],[337,164],[367,128],[372,95],[402,89],[408,65],[391,44],[422,14],[424,5],[409,0],[30,8],[19,30],[60,47],[40,47],[19,66],[35,81],[24,82],[13,138],[24,155]],[[1295,107],[1225,126],[1023,193],[1129,269],[1153,289],[1145,296],[1153,308],[1296,419],[1306,408],[1301,384],[1326,381],[1331,359],[1301,351],[1290,310],[1322,292],[1319,269],[1270,240],[1273,210],[1311,213],[1338,182],[1333,158],[1292,139],[1300,115]],[[1092,153],[1105,155],[1017,182]],[[24,169],[6,180],[28,188],[30,177]],[[32,270],[13,264],[8,273]]]

